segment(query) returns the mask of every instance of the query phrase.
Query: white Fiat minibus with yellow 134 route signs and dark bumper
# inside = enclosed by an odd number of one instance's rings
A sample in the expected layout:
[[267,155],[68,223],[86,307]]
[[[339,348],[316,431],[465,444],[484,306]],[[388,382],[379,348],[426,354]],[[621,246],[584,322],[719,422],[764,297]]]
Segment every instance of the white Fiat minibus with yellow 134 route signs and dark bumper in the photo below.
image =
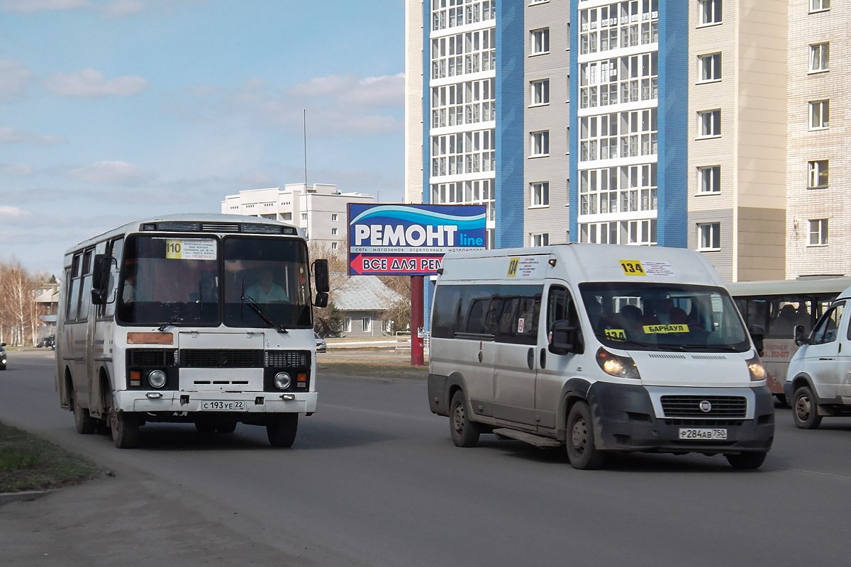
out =
[[486,432],[566,445],[575,468],[599,468],[609,451],[721,453],[734,468],[765,460],[765,371],[700,253],[451,252],[438,274],[428,395],[455,445]]

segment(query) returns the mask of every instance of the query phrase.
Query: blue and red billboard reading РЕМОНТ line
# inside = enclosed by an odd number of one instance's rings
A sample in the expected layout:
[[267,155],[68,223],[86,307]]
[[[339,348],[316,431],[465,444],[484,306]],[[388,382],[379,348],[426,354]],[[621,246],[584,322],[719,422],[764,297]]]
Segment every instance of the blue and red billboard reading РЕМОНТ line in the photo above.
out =
[[349,203],[350,275],[432,275],[446,252],[484,248],[484,205]]

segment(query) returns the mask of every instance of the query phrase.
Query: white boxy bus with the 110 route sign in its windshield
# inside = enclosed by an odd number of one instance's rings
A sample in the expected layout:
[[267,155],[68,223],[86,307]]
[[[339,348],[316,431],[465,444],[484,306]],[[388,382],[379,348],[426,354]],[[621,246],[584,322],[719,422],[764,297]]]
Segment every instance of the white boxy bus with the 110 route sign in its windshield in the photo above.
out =
[[266,426],[293,444],[317,409],[311,305],[328,303],[328,263],[301,229],[236,215],[126,224],[66,252],[56,388],[77,432],[111,428],[134,447],[147,422],[201,433]]

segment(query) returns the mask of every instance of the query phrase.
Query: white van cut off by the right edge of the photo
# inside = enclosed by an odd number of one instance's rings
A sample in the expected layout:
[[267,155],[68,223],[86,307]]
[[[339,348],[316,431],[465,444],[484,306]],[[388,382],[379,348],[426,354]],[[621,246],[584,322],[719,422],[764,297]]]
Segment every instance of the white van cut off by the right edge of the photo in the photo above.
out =
[[784,386],[795,425],[819,427],[822,417],[851,416],[851,326],[843,317],[851,287],[839,294],[809,336],[795,327],[801,347],[789,362]]

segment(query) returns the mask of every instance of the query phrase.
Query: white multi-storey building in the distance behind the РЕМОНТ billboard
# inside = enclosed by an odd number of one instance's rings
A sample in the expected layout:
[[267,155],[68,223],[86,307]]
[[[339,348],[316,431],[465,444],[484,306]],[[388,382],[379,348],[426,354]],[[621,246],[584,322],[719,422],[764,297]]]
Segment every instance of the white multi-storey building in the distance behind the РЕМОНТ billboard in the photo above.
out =
[[283,189],[252,189],[228,195],[221,201],[221,212],[291,223],[304,229],[310,241],[337,250],[346,241],[346,205],[374,202],[373,196],[342,193],[334,184],[290,183]]

